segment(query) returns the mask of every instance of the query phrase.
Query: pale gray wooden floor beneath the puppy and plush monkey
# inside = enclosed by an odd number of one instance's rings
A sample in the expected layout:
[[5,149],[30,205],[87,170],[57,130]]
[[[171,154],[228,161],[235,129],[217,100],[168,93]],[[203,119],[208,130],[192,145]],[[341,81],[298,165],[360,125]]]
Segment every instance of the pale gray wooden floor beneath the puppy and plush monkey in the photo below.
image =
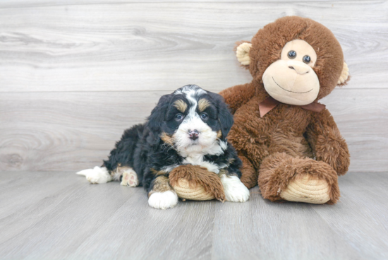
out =
[[388,173],[348,173],[337,205],[147,204],[73,172],[0,173],[0,259],[388,259]]

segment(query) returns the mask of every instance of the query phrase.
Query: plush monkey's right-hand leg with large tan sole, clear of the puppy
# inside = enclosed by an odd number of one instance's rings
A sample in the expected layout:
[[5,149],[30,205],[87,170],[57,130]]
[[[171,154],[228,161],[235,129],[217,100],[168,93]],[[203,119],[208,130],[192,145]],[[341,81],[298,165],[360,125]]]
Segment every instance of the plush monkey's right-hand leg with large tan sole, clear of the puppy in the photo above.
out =
[[339,199],[337,172],[326,162],[274,153],[262,160],[258,179],[264,199],[314,204]]

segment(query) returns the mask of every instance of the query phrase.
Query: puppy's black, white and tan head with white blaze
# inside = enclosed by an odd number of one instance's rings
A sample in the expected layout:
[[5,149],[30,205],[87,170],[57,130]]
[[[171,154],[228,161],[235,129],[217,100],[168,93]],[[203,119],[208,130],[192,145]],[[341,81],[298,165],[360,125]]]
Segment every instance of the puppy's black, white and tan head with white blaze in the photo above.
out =
[[160,98],[148,125],[165,143],[182,154],[212,153],[226,148],[225,138],[233,116],[221,95],[198,85],[186,85]]

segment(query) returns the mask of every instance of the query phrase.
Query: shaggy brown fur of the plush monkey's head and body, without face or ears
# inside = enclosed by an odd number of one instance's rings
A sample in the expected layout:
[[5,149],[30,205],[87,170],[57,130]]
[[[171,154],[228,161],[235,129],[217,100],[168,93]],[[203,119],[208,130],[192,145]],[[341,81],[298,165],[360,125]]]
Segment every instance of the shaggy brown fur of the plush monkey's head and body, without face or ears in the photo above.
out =
[[[350,159],[346,142],[329,111],[317,113],[280,103],[260,118],[258,105],[269,97],[262,84],[262,74],[280,59],[284,45],[296,39],[305,40],[317,53],[313,67],[320,80],[317,100],[335,88],[344,56],[332,32],[308,18],[280,18],[253,37],[248,66],[253,81],[220,93],[234,113],[228,140],[243,160],[241,181],[250,188],[257,184],[259,175],[265,199],[279,199],[279,188],[284,189],[293,178],[315,175],[329,183],[331,200],[328,203],[336,203],[337,175],[346,173]],[[286,165],[290,168],[286,169]]]

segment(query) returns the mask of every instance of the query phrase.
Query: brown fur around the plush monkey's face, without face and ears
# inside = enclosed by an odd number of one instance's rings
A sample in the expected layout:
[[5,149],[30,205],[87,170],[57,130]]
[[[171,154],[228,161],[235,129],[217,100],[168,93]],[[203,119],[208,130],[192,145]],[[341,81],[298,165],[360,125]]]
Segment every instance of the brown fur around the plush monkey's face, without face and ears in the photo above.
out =
[[[249,70],[262,85],[262,74],[280,58],[281,49],[291,40],[305,40],[317,53],[314,71],[320,78],[320,93],[317,100],[329,95],[337,85],[344,54],[333,33],[324,25],[308,18],[287,16],[265,25],[252,39]],[[262,92],[264,88],[258,88]],[[265,90],[264,90],[265,91]]]

